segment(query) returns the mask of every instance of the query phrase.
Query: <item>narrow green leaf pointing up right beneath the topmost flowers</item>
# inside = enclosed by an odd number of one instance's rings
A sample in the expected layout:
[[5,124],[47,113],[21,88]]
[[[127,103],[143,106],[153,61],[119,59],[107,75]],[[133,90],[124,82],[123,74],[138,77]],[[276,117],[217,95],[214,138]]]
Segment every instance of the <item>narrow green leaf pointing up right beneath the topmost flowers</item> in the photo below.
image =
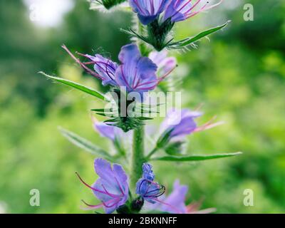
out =
[[210,28],[206,31],[202,31],[201,33],[199,33],[198,35],[192,37],[192,38],[185,38],[181,41],[177,41],[174,43],[170,43],[169,47],[170,48],[183,48],[185,46],[190,45],[191,43],[194,43],[196,41],[198,41],[200,38],[203,38],[205,36],[208,36],[211,33],[214,33],[216,31],[219,31],[220,29],[224,28],[225,26],[227,26],[229,24],[230,21],[227,21],[226,23],[222,24],[221,26],[217,26],[214,28]]

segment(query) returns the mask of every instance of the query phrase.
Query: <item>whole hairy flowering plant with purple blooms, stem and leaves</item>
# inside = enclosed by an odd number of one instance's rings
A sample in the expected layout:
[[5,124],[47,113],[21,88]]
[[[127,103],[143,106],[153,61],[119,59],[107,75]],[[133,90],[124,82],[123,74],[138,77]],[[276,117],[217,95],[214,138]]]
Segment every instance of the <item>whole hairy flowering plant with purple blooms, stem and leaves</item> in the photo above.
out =
[[[110,9],[113,6],[126,3],[127,0],[90,1],[95,5],[100,4],[105,6],[106,9]],[[152,212],[159,210],[161,212],[183,214],[214,211],[214,209],[199,211],[200,203],[186,205],[185,199],[188,188],[186,185],[180,185],[178,180],[174,183],[170,195],[165,196],[165,186],[160,185],[155,180],[150,161],[190,162],[239,155],[240,152],[218,155],[183,154],[182,144],[185,143],[187,135],[213,128],[221,123],[214,123],[214,119],[212,119],[204,125],[198,125],[196,119],[202,115],[199,108],[196,110],[172,108],[167,113],[165,120],[162,121],[160,130],[157,130],[156,135],[158,137],[152,138],[154,143],[151,146],[153,149],[146,154],[144,140],[147,133],[145,133],[143,127],[145,123],[143,121],[152,120],[152,118],[136,115],[152,112],[150,110],[152,104],[149,105],[145,102],[145,93],[156,88],[167,92],[167,89],[162,88],[161,83],[177,67],[177,61],[175,58],[167,56],[168,53],[165,48],[187,48],[200,38],[227,26],[228,23],[203,31],[197,36],[184,38],[181,41],[173,41],[174,38],[169,36],[175,23],[185,21],[199,14],[199,12],[211,9],[219,5],[222,0],[217,4],[209,4],[208,1],[203,4],[202,2],[202,0],[128,0],[128,4],[135,12],[135,18],[138,15],[138,28],[135,30],[130,28],[125,32],[136,38],[137,43],[130,43],[120,49],[118,55],[120,63],[116,63],[98,53],[95,55],[77,53],[81,58],[86,58],[86,61],[81,61],[66,46],[62,46],[84,71],[98,78],[103,86],[108,86],[109,92],[113,92],[113,100],[108,98],[107,94],[100,93],[93,88],[43,73],[43,75],[54,81],[93,95],[93,97],[104,100],[108,104],[113,104],[115,100],[115,107],[92,109],[92,111],[98,115],[108,117],[108,120],[103,122],[93,118],[93,128],[113,143],[117,153],[107,152],[81,136],[61,128],[61,133],[75,145],[91,152],[93,155],[102,157],[95,159],[94,162],[98,179],[93,185],[85,182],[76,172],[81,182],[90,188],[95,197],[100,200],[100,204],[88,204],[83,200],[83,203],[87,206],[86,209],[103,208],[108,214],[113,212],[137,213],[142,209],[151,210]],[[131,93],[136,93],[136,95],[130,100],[125,99]],[[117,98],[115,99],[115,97]],[[125,104],[125,107],[123,107],[123,104]],[[124,114],[122,107],[125,110],[130,108],[131,113]],[[137,110],[137,108],[139,109]],[[115,111],[118,115],[115,115]],[[133,134],[132,137],[128,135],[130,133]],[[123,144],[128,139],[133,140],[131,152]],[[155,153],[164,155],[157,156]],[[122,162],[121,164],[125,166],[130,165],[130,169],[128,169],[130,170],[130,178],[122,165],[117,163],[111,165],[108,160]]]

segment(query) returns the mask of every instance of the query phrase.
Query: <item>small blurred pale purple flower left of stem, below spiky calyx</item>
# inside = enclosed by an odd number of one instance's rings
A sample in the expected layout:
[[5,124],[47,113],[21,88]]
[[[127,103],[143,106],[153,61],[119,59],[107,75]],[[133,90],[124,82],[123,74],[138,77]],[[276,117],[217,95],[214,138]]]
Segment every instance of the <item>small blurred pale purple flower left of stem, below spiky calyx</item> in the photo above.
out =
[[115,141],[116,138],[120,138],[123,135],[123,130],[115,126],[110,126],[103,122],[94,121],[94,128],[98,130],[102,137],[109,138]]

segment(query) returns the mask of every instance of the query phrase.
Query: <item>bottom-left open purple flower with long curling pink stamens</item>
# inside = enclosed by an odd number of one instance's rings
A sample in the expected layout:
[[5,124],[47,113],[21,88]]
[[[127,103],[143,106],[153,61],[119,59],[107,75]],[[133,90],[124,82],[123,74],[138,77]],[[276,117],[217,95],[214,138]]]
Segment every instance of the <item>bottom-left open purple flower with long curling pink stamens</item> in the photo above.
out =
[[102,158],[95,159],[94,167],[99,179],[92,186],[76,174],[81,182],[89,187],[102,203],[90,205],[83,202],[88,206],[88,209],[104,207],[105,212],[110,214],[125,204],[128,199],[128,177],[121,165],[113,164],[112,168],[110,162]]

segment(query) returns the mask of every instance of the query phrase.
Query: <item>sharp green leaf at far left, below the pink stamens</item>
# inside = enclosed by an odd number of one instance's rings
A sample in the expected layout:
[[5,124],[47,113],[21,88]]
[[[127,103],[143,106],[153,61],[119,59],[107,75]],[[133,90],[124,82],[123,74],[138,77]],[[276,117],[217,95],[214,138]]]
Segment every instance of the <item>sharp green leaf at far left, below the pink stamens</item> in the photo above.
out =
[[58,81],[59,83],[63,83],[66,86],[71,86],[73,88],[76,88],[78,90],[83,91],[84,93],[88,93],[89,95],[93,95],[96,98],[99,98],[101,100],[108,100],[108,98],[106,98],[102,93],[99,93],[98,91],[94,90],[93,88],[88,88],[86,86],[83,86],[81,84],[75,83],[73,81],[69,81],[69,80],[64,79],[64,78],[58,78],[58,77],[54,77],[54,76],[49,76],[49,75],[47,75],[44,72],[39,72],[39,73],[41,73],[43,76],[46,76],[47,78],[50,78],[50,79],[52,79],[54,81]]

